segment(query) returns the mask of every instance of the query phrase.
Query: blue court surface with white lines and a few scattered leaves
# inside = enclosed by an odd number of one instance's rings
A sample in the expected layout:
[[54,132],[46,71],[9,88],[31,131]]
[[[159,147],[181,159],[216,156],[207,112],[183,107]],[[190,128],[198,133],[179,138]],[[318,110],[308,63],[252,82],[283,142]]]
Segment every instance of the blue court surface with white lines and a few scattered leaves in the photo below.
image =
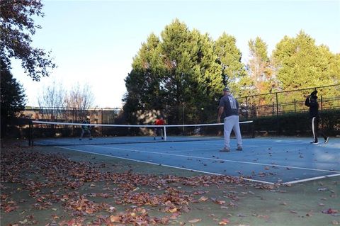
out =
[[236,140],[232,140],[231,152],[219,152],[223,147],[222,139],[182,142],[152,142],[151,137],[143,139],[150,142],[124,143],[122,140],[121,143],[104,145],[96,144],[98,140],[94,138],[89,143],[64,140],[62,146],[56,146],[164,167],[243,176],[261,183],[299,183],[340,176],[339,138],[329,139],[326,145],[322,139],[319,145],[312,145],[309,138],[296,137],[244,139],[243,151],[236,151]]

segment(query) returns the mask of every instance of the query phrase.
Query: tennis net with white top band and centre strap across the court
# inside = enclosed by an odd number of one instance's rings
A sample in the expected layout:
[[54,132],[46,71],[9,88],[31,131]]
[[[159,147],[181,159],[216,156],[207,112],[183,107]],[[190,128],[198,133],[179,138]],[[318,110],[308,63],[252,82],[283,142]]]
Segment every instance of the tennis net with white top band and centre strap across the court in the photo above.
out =
[[[239,123],[242,137],[254,137],[252,121]],[[84,136],[81,133],[84,131]],[[90,136],[91,135],[91,136]],[[233,133],[232,133],[233,136]],[[111,145],[181,142],[223,138],[223,123],[194,125],[117,125],[33,121],[30,145]]]

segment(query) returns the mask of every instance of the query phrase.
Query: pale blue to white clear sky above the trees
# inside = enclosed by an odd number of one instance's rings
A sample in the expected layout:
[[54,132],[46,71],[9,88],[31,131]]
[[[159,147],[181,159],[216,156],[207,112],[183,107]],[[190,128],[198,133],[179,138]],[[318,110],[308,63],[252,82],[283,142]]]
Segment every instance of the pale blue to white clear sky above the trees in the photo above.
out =
[[259,36],[268,53],[288,35],[300,30],[340,52],[340,0],[338,1],[42,1],[42,26],[33,47],[52,51],[57,68],[50,77],[33,81],[12,61],[11,72],[26,91],[26,106],[38,106],[42,91],[53,82],[71,90],[89,84],[94,107],[120,108],[125,77],[133,57],[147,37],[160,36],[178,18],[190,29],[216,40],[223,32],[233,35],[249,60],[248,41]]

